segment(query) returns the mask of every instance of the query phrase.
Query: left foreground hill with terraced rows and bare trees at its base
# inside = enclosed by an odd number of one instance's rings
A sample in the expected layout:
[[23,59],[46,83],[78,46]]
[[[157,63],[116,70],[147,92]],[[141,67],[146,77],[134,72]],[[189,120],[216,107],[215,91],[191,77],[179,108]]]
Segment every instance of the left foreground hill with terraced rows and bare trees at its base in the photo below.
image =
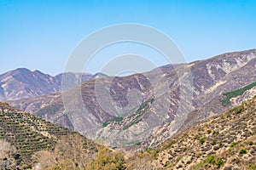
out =
[[116,169],[123,161],[119,152],[0,102],[0,169]]

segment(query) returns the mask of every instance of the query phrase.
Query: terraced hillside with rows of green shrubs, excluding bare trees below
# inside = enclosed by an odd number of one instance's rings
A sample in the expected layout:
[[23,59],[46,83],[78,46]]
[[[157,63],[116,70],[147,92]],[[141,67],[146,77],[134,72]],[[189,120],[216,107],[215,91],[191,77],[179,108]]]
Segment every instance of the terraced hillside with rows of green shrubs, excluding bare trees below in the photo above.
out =
[[[62,142],[66,139],[67,142],[68,138],[81,140],[83,144],[81,151],[84,151],[88,160],[96,153],[97,145],[78,133],[55,126],[32,114],[17,111],[7,103],[0,102],[1,169],[30,168],[33,163],[36,163],[32,159],[34,154],[43,150],[53,152],[60,139]],[[72,146],[77,141],[70,140],[69,142]],[[10,145],[10,150],[6,153],[3,151],[7,150],[5,145]],[[68,150],[68,147],[70,146],[67,145],[65,149]]]

